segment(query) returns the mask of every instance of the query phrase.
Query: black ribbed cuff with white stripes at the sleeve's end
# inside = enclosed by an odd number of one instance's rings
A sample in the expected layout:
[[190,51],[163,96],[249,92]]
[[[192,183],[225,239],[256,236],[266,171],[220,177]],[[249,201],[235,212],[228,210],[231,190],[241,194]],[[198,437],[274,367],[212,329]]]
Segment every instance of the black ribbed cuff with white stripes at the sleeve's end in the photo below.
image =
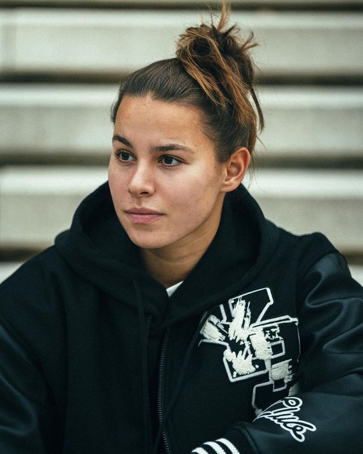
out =
[[240,430],[231,429],[225,437],[203,443],[195,448],[194,454],[256,454],[248,435]]

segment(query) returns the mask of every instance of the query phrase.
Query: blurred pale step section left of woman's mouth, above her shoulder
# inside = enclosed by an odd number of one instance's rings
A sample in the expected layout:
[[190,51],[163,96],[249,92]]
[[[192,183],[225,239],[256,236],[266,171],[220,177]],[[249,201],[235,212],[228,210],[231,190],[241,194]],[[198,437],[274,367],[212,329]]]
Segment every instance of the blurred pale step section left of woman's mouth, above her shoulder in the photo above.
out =
[[0,170],[0,248],[41,249],[69,228],[75,208],[107,180],[107,168]]

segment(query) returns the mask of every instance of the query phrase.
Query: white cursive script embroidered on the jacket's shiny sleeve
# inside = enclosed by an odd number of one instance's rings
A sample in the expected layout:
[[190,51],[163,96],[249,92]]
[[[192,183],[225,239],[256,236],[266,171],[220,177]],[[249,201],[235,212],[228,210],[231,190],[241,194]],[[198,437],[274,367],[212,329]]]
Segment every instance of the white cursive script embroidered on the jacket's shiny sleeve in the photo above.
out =
[[[300,411],[302,400],[298,397],[287,397],[270,405],[258,418],[270,419],[279,424],[283,429],[290,432],[293,438],[299,442],[305,441],[305,432],[314,432],[316,426],[310,422],[302,421],[295,413]],[[256,420],[255,419],[255,420]]]

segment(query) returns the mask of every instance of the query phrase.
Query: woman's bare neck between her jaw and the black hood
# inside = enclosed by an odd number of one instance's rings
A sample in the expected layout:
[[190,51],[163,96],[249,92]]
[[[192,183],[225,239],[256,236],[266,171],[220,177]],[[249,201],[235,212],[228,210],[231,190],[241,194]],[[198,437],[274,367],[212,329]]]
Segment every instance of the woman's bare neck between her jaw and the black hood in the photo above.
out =
[[220,221],[218,219],[194,238],[184,238],[180,243],[159,249],[142,249],[141,254],[147,273],[155,280],[171,287],[183,281],[202,258],[215,237]]

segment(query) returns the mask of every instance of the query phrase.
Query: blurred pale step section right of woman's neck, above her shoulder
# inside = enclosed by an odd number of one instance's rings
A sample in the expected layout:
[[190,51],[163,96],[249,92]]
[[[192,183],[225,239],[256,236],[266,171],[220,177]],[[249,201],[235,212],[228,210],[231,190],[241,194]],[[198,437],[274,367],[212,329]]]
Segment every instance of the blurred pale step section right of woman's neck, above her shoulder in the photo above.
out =
[[363,254],[362,170],[261,169],[250,191],[275,224],[321,231],[342,253]]

